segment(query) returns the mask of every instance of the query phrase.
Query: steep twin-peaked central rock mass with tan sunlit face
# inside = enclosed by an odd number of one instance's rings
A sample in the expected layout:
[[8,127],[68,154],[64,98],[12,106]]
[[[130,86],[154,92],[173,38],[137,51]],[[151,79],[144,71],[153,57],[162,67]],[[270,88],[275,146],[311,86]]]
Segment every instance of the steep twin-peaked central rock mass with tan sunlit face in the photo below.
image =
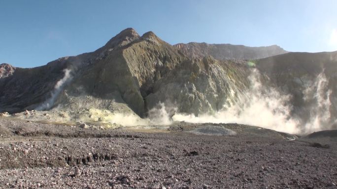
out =
[[[138,115],[145,113],[143,99],[151,92],[154,82],[184,57],[152,32],[139,37],[129,28],[108,44],[121,39],[129,40],[122,40],[115,48],[104,49],[103,55],[65,88],[57,104],[65,108],[111,109],[110,104],[126,103]],[[90,99],[100,102],[93,103]]]

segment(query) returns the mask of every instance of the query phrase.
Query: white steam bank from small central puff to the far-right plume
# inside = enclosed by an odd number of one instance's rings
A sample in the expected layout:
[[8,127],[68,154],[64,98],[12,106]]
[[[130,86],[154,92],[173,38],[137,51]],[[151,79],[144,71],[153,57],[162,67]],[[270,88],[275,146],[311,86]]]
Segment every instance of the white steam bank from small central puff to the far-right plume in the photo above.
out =
[[249,76],[250,89],[238,98],[235,104],[225,105],[213,114],[177,113],[170,118],[164,104],[160,108],[150,110],[149,118],[153,123],[169,125],[172,121],[191,123],[239,123],[260,126],[280,132],[292,134],[307,134],[320,130],[331,129],[332,106],[328,90],[328,80],[322,72],[315,81],[308,82],[304,91],[304,101],[310,101],[310,119],[303,123],[301,119],[291,114],[290,95],[282,95],[275,88],[266,87],[261,83],[260,73],[254,69]]

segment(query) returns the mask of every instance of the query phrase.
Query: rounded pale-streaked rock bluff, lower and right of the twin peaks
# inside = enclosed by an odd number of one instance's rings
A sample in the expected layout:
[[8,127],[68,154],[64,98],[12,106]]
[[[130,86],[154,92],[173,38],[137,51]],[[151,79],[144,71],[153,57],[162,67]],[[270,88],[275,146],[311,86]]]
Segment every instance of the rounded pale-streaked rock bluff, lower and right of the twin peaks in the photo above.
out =
[[242,61],[219,61],[211,56],[201,61],[185,61],[155,83],[145,98],[148,108],[158,102],[196,115],[214,112],[234,103],[247,89],[249,70]]

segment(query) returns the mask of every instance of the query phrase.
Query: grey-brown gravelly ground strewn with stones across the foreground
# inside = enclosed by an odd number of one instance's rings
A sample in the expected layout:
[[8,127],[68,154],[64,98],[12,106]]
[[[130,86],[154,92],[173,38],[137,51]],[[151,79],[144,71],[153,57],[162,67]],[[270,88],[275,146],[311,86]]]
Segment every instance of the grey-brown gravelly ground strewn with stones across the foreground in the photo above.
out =
[[[0,118],[0,188],[337,188],[336,137],[237,124],[191,132],[204,126],[139,133]],[[219,128],[231,135],[211,135]]]

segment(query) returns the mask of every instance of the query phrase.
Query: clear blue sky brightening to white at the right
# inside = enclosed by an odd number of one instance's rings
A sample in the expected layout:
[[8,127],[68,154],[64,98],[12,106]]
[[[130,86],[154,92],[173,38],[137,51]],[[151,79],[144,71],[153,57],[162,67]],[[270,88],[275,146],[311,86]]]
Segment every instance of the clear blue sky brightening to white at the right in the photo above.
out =
[[127,27],[170,44],[337,51],[337,0],[1,0],[0,63],[92,52]]

